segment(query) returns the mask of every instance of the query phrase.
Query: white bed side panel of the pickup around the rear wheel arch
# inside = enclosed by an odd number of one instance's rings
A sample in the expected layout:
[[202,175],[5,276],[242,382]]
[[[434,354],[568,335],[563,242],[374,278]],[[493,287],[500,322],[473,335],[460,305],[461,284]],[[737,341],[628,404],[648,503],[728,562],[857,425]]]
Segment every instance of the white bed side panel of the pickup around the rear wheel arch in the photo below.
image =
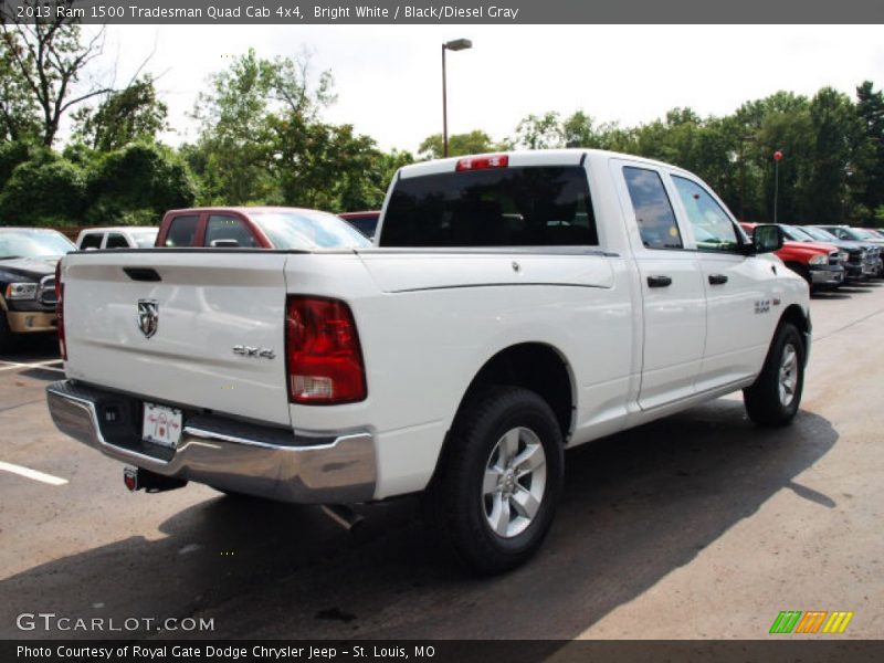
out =
[[322,257],[290,263],[290,293],[347,293],[368,398],[333,411],[293,404],[292,421],[317,432],[370,423],[377,497],[425,487],[467,387],[486,361],[514,345],[548,345],[568,366],[577,401],[572,440],[622,423],[636,369],[623,259],[383,250]]

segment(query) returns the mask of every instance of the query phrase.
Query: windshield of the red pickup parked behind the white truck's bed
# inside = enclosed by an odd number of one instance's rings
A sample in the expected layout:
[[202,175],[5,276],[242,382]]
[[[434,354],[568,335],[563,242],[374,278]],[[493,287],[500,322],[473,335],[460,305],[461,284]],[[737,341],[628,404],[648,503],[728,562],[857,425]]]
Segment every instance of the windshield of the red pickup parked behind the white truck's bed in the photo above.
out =
[[371,242],[349,223],[312,210],[252,212],[252,220],[270,238],[274,249],[361,249]]

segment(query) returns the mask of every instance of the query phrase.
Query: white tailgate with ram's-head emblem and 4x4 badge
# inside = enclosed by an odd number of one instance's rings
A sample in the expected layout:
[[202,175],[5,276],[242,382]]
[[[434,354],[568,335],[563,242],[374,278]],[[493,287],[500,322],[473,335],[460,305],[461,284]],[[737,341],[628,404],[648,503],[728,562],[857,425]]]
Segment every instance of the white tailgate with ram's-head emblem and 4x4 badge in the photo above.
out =
[[[96,252],[64,260],[67,377],[159,403],[291,424],[288,255],[186,253]],[[236,352],[236,346],[260,354]]]

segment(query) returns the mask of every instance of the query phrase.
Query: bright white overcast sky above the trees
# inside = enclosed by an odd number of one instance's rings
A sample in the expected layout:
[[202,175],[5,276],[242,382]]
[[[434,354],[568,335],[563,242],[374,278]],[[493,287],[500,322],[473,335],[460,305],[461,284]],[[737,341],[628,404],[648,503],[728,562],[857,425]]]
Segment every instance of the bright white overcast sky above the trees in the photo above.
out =
[[582,109],[634,126],[676,106],[726,115],[779,90],[812,96],[830,85],[851,96],[884,85],[880,25],[110,25],[92,74],[124,84],[147,71],[169,106],[165,141],[196,138],[188,117],[208,76],[254,48],[259,55],[312,53],[329,70],[337,103],[324,118],[352,124],[383,149],[417,151],[442,131],[441,44],[448,54],[449,134],[493,139],[529,114]]

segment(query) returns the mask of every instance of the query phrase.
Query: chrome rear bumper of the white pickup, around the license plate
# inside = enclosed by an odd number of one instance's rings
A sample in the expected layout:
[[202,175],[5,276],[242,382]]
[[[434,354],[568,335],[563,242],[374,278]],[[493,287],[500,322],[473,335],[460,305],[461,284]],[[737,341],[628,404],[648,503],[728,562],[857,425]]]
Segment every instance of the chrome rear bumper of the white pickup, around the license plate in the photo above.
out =
[[63,433],[165,476],[303,504],[352,504],[375,494],[375,443],[367,431],[299,433],[186,414],[171,450],[140,439],[135,397],[63,380],[46,387],[46,401]]

